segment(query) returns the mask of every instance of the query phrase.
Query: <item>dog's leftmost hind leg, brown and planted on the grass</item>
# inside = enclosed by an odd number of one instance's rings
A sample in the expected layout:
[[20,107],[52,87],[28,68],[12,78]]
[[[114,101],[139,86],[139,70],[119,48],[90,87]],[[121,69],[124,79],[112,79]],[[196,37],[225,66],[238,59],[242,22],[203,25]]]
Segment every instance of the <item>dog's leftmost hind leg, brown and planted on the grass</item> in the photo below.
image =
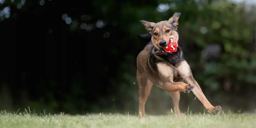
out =
[[145,103],[148,98],[148,95],[151,91],[152,88],[152,82],[147,78],[147,76],[142,73],[140,74],[137,71],[137,82],[139,84],[139,119],[140,118],[145,118]]

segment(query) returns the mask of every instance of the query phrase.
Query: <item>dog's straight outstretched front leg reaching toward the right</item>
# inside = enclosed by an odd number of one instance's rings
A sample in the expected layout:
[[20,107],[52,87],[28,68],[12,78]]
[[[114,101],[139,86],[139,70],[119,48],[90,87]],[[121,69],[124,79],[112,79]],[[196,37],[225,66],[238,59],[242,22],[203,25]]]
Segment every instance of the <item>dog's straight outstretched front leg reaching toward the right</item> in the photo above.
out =
[[179,66],[177,66],[178,72],[180,76],[184,79],[184,81],[188,84],[194,84],[195,87],[192,89],[192,92],[196,95],[197,99],[202,102],[204,107],[208,112],[212,112],[214,115],[221,111],[220,106],[213,107],[211,103],[206,99],[202,89],[200,88],[199,84],[194,79],[191,69],[187,63],[187,61],[182,61]]

